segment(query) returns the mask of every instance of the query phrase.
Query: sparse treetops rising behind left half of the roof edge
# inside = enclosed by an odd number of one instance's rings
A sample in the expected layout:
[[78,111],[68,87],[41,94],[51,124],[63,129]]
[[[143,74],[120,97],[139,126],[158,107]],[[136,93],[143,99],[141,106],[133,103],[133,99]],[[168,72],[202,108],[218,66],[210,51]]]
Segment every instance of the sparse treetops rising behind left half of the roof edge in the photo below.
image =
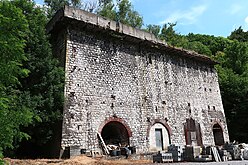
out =
[[130,25],[135,28],[141,28],[143,25],[143,18],[135,11],[129,0],[99,0],[97,7],[94,3],[87,6],[89,2],[81,2],[81,0],[45,0],[48,8],[48,17],[51,18],[56,11],[65,5],[83,8],[90,12],[96,10],[97,14],[107,17],[111,20]]

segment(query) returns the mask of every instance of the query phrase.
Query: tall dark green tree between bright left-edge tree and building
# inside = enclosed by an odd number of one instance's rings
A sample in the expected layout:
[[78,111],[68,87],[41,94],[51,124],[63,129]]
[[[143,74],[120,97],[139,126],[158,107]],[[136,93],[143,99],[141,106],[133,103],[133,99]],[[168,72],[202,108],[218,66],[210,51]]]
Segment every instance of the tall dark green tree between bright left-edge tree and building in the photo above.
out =
[[25,15],[29,28],[24,47],[28,60],[23,65],[30,73],[20,80],[22,86],[19,89],[25,94],[22,102],[30,106],[35,120],[32,125],[22,127],[31,136],[20,146],[22,154],[25,154],[25,145],[40,148],[54,138],[54,125],[62,118],[64,70],[52,56],[45,30],[45,12],[31,1],[14,0],[12,3]]

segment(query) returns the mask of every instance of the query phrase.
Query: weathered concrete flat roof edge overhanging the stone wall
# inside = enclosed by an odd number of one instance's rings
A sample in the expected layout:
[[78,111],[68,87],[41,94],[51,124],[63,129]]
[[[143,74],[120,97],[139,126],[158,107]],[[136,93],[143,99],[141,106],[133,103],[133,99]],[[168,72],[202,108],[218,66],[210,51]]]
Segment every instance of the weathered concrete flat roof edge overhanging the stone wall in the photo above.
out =
[[53,18],[48,22],[46,26],[47,33],[51,33],[52,30],[56,27],[56,23],[63,21],[64,18],[91,24],[102,29],[108,29],[119,34],[136,38],[138,40],[148,41],[151,44],[159,45],[159,47],[164,47],[168,52],[181,53],[183,56],[187,56],[188,58],[196,59],[207,64],[218,64],[218,62],[212,60],[206,55],[202,55],[186,49],[168,46],[165,41],[157,39],[152,33],[133,28],[131,26],[70,6],[64,6],[53,16]]

